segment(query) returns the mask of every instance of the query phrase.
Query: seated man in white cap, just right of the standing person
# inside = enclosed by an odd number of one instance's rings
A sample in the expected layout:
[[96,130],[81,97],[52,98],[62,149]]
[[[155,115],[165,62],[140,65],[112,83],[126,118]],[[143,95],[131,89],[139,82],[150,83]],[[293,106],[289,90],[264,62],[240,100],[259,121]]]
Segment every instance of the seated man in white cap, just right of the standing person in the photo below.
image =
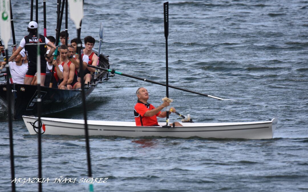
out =
[[[47,50],[46,54],[45,55],[48,55],[50,51]],[[53,54],[54,55],[54,54]],[[45,84],[44,86],[45,87],[49,87],[49,83],[50,83],[50,77],[51,77],[51,74],[52,74],[52,66],[54,65],[55,66],[55,72],[54,72],[54,78],[53,81],[52,81],[52,88],[58,88],[58,84],[59,84],[59,80],[62,80],[63,79],[63,66],[59,63],[59,57],[57,57],[56,60],[54,60],[53,58],[47,58],[46,57],[46,60],[47,60],[47,63],[46,63],[46,79],[45,79]]]

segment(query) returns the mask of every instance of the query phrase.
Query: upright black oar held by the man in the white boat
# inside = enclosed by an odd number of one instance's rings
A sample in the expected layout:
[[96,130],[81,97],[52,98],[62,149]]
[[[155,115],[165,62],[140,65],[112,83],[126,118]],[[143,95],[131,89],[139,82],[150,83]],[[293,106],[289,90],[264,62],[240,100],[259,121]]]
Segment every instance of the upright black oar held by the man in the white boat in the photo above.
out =
[[[169,34],[169,18],[168,18],[168,2],[164,3],[164,26],[165,26],[165,38],[166,38],[166,96],[169,98],[169,86],[168,86],[168,34]],[[169,107],[167,107],[167,126],[169,126]]]

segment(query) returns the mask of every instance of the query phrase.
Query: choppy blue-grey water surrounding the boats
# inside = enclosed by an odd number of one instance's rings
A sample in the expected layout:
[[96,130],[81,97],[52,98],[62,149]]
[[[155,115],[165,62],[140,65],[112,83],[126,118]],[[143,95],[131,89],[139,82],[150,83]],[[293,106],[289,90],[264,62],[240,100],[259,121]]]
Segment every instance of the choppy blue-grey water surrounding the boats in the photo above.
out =
[[[16,41],[26,35],[30,2],[12,1]],[[47,34],[56,5],[47,2]],[[163,1],[85,1],[82,33],[105,37],[103,53],[120,72],[164,82]],[[40,5],[43,21],[43,4]],[[169,83],[231,100],[170,89],[178,112],[196,122],[270,120],[274,139],[92,137],[96,191],[308,191],[308,1],[170,1]],[[70,39],[76,37],[70,21]],[[63,27],[64,28],[64,21]],[[41,30],[43,31],[43,30]],[[98,46],[95,45],[95,48]],[[134,92],[145,86],[160,104],[165,88],[116,75],[89,96],[88,119],[134,121]],[[48,115],[83,118],[80,107]],[[10,190],[9,136],[1,112],[0,190]],[[179,120],[171,116],[172,121]],[[13,123],[15,176],[37,177],[37,136]],[[87,177],[83,137],[43,135],[45,191],[87,191],[87,184],[52,183]],[[17,185],[35,191],[36,184]]]

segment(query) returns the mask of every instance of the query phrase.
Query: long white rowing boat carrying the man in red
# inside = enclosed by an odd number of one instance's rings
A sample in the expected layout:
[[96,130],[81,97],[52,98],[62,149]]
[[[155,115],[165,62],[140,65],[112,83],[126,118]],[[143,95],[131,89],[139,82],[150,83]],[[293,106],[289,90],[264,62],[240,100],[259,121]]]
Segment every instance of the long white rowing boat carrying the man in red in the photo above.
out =
[[[38,118],[22,116],[31,135],[37,134]],[[84,135],[84,120],[41,118],[41,133],[49,135]],[[121,137],[201,137],[271,139],[278,118],[271,121],[237,123],[181,123],[183,127],[136,126],[135,122],[88,120],[89,135]],[[159,123],[165,125],[166,123]]]

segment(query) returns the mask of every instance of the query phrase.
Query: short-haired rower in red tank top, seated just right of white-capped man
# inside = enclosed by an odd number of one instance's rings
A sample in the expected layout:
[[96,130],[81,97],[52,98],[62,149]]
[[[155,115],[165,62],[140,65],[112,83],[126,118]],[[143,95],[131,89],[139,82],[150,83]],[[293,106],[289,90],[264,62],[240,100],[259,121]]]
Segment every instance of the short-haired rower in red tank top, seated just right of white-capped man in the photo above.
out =
[[59,47],[60,49],[60,64],[63,66],[63,80],[59,84],[59,89],[67,89],[67,81],[68,81],[68,74],[69,74],[69,67],[68,63],[71,63],[71,61],[68,60],[68,49],[66,45],[61,45]]

